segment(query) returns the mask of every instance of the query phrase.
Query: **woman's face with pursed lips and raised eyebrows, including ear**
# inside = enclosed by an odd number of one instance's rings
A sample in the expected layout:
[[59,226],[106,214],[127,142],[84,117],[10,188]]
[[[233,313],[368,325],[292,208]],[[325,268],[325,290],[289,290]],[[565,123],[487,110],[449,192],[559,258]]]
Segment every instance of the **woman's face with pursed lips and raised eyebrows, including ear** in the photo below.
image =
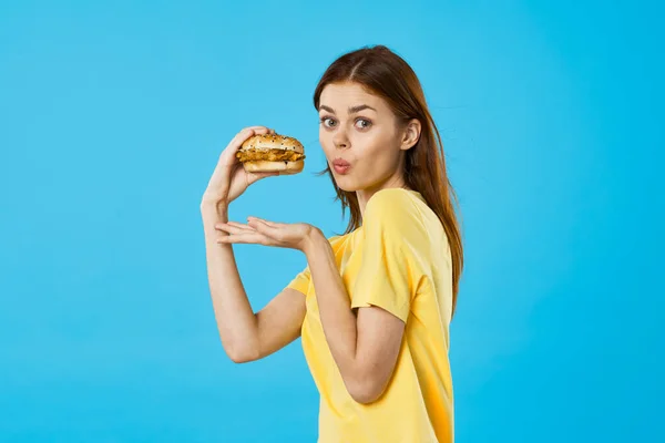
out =
[[383,99],[357,83],[328,84],[319,119],[319,142],[339,188],[374,193],[403,185],[403,156],[412,144]]

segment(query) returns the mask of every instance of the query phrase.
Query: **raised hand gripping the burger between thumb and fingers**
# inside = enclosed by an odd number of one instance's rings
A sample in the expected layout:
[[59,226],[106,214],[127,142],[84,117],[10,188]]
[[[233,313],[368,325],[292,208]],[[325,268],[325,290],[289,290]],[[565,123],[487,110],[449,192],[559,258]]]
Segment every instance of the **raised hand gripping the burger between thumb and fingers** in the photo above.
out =
[[203,194],[202,204],[211,203],[216,206],[228,206],[231,202],[238,198],[253,183],[273,175],[279,175],[278,172],[247,173],[241,161],[236,157],[236,153],[247,138],[253,135],[268,133],[274,134],[275,130],[265,126],[249,126],[233,137],[222,152],[222,155],[219,155],[217,166]]

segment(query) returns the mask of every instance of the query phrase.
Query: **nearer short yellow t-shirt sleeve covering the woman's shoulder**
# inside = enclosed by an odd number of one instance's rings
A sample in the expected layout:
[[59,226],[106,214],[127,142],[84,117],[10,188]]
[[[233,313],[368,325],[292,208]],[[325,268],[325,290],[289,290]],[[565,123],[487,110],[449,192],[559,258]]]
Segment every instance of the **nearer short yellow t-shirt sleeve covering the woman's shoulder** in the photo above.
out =
[[362,258],[351,286],[351,308],[377,306],[407,321],[424,275],[428,235],[411,197],[383,189],[368,202],[364,216]]

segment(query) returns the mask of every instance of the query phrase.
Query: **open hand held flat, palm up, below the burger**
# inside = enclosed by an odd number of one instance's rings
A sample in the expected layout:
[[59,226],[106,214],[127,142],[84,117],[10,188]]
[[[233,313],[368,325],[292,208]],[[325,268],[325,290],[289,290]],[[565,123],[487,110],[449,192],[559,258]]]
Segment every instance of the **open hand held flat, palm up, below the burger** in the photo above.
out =
[[256,217],[247,217],[247,224],[228,222],[215,225],[222,235],[218,244],[255,244],[280,248],[305,250],[309,236],[316,228],[306,223],[274,223]]

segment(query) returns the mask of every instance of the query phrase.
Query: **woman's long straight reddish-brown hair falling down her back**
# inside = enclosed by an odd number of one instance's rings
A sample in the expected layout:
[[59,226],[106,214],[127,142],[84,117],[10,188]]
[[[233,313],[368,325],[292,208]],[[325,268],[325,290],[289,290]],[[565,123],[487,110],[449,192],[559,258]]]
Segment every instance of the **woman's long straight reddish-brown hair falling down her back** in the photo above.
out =
[[[387,101],[397,119],[406,124],[417,119],[421,124],[418,143],[406,152],[403,176],[407,185],[419,192],[437,214],[448,236],[452,257],[452,312],[457,306],[459,280],[463,268],[463,248],[460,226],[453,200],[457,195],[446,173],[443,144],[439,130],[428,110],[424,93],[411,66],[385,45],[364,47],[338,58],[324,73],[314,92],[314,106],[318,111],[324,87],[330,83],[354,82]],[[318,175],[328,174],[337,197],[341,202],[342,217],[350,209],[345,234],[361,224],[360,207],[355,192],[340,189],[330,167]]]

